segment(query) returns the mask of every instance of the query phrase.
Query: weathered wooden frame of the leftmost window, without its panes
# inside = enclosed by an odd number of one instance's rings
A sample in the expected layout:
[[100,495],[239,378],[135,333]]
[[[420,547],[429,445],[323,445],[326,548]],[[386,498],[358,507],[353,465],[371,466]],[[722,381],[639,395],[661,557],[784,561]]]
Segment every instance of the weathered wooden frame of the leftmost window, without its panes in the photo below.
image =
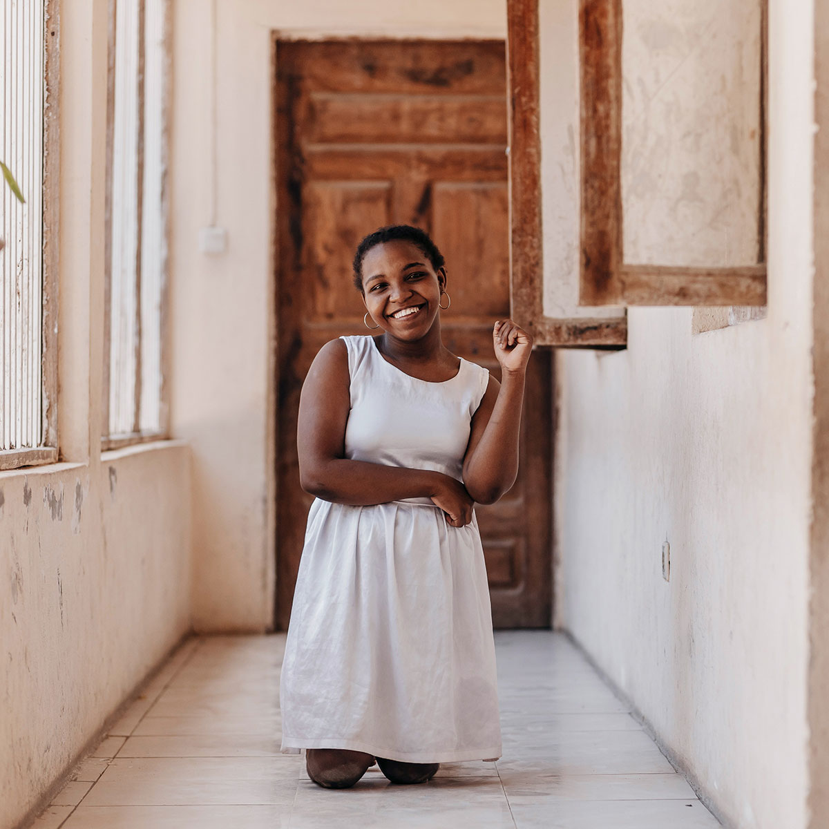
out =
[[42,445],[0,450],[0,471],[56,463],[57,430],[58,256],[60,243],[60,0],[43,7],[43,213],[41,257],[41,429]]

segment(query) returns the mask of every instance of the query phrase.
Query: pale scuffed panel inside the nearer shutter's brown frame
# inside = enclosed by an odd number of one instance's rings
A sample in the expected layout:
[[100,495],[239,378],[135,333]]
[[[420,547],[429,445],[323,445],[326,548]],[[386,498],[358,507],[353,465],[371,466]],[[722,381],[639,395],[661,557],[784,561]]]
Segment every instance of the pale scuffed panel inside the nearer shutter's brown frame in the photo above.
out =
[[624,0],[626,262],[757,263],[763,2]]

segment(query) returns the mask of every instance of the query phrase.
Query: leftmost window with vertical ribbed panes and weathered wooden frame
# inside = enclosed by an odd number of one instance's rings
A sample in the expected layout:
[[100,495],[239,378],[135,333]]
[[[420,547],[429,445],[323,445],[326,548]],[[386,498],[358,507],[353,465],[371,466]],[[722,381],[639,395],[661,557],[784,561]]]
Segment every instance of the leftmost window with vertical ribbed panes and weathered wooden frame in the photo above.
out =
[[[56,22],[51,3],[0,6],[0,160],[25,203],[2,187],[0,239],[0,469],[57,459],[56,198],[57,153],[45,153],[56,128]],[[50,112],[48,119],[46,111]]]

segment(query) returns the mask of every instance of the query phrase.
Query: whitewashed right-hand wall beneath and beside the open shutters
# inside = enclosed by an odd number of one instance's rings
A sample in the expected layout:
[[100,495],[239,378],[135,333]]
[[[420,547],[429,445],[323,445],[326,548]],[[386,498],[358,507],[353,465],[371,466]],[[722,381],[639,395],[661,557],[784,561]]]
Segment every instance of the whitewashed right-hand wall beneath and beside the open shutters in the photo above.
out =
[[770,0],[768,31],[768,316],[694,334],[691,308],[630,308],[626,351],[560,351],[555,622],[726,822],[800,829],[812,4]]

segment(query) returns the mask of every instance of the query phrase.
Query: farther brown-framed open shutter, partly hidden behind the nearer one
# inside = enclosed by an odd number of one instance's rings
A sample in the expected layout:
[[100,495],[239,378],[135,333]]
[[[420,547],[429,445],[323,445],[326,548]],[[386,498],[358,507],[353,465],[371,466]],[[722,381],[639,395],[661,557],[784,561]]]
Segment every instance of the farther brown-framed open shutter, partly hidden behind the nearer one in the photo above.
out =
[[[575,147],[564,159],[566,175],[554,176],[544,166],[555,168],[551,156],[561,143],[560,135],[566,141],[568,128],[578,127],[578,0],[571,2],[570,9],[559,2],[543,10],[547,15],[545,32],[559,32],[564,27],[568,38],[566,54],[550,51],[544,56],[539,0],[507,2],[511,315],[532,333],[536,345],[620,348],[627,342],[624,308],[579,307],[579,177]],[[561,64],[561,71],[546,72],[543,84],[542,58]],[[545,95],[550,93],[549,99],[541,99],[542,86]],[[564,102],[563,117],[557,114],[560,98]],[[542,106],[550,109],[542,113]],[[555,129],[549,136],[542,136],[542,121],[553,115]],[[547,190],[542,191],[545,187]],[[551,205],[558,216],[550,216]]]

